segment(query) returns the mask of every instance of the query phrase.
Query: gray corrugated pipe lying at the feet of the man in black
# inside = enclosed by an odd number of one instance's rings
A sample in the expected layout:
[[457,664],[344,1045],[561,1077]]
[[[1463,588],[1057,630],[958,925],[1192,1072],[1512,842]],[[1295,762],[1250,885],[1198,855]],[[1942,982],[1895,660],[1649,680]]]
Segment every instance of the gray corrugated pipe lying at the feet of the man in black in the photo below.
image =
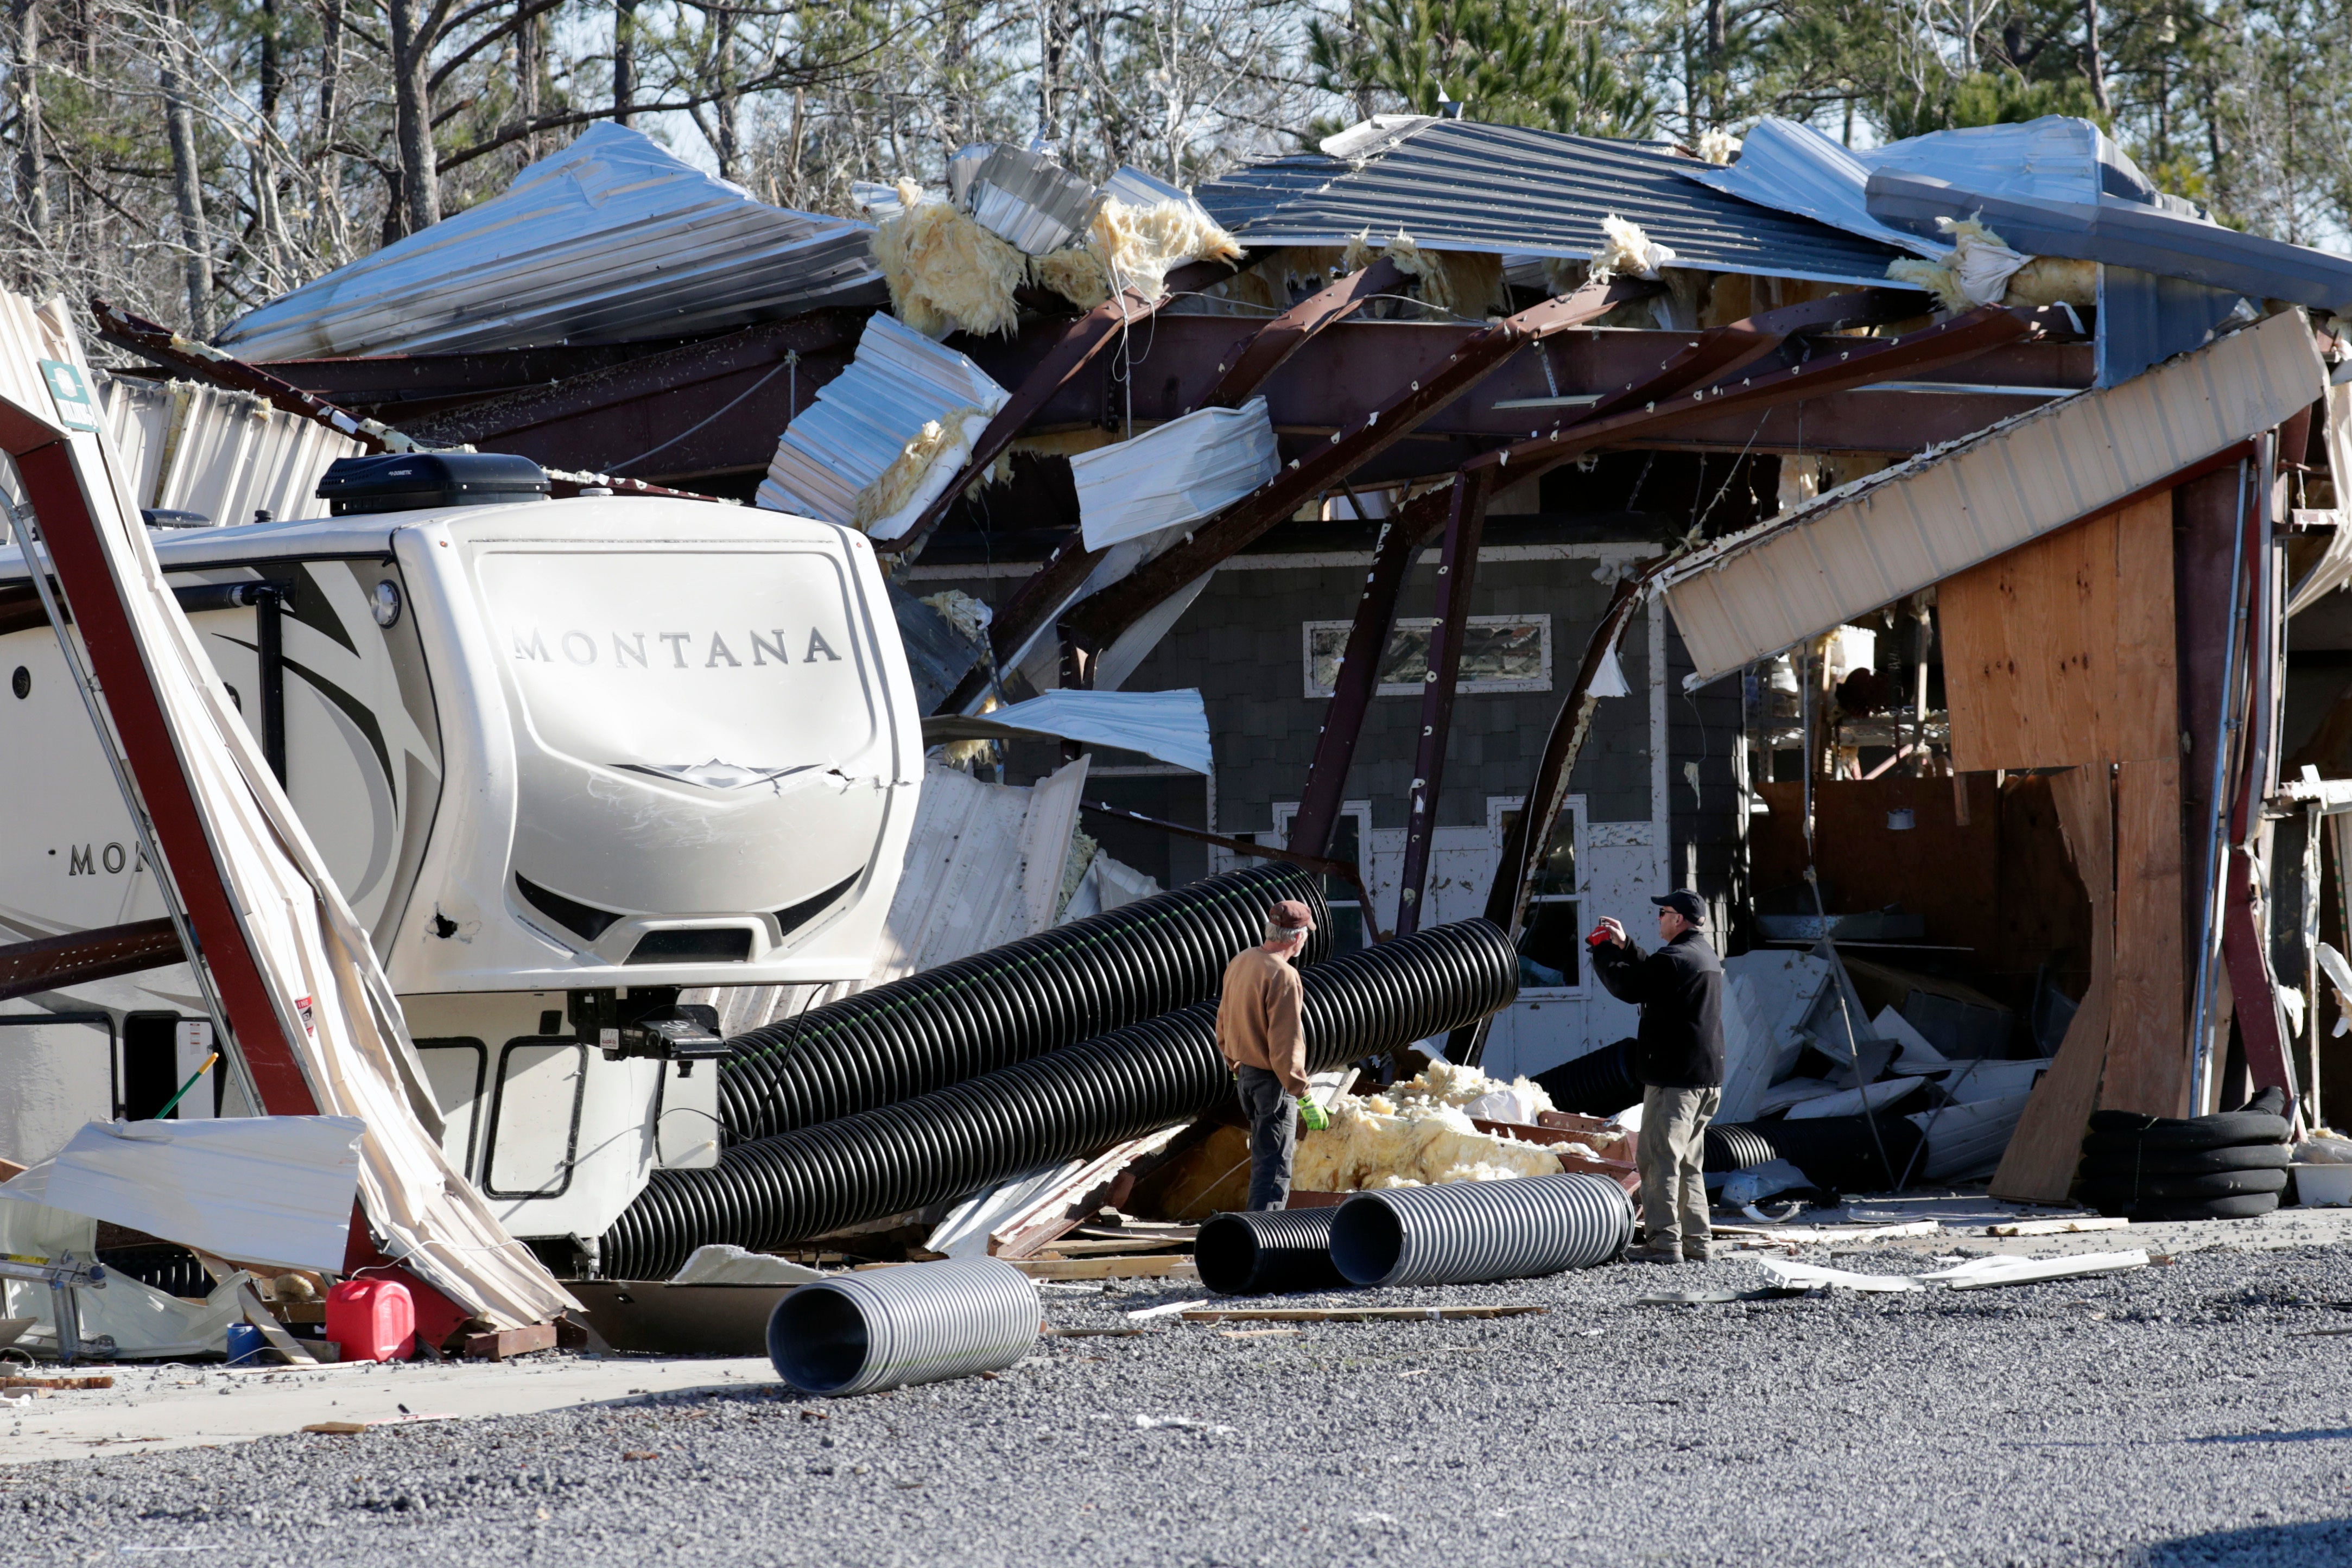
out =
[[1609,1262],[1632,1199],[1599,1175],[1522,1175],[1357,1192],[1331,1220],[1331,1262],[1357,1286],[1470,1286]]

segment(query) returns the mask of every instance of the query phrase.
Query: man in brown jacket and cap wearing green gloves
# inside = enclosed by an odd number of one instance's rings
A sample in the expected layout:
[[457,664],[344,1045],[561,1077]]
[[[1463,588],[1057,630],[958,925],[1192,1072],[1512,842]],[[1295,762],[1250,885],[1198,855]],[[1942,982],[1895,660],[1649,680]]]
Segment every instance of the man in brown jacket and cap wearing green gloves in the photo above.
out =
[[1249,1117],[1249,1206],[1282,1208],[1291,1199],[1298,1147],[1298,1095],[1308,1091],[1308,1041],[1301,1025],[1298,971],[1315,917],[1296,898],[1265,912],[1265,945],[1225,964],[1216,1004],[1216,1048],[1232,1063]]

